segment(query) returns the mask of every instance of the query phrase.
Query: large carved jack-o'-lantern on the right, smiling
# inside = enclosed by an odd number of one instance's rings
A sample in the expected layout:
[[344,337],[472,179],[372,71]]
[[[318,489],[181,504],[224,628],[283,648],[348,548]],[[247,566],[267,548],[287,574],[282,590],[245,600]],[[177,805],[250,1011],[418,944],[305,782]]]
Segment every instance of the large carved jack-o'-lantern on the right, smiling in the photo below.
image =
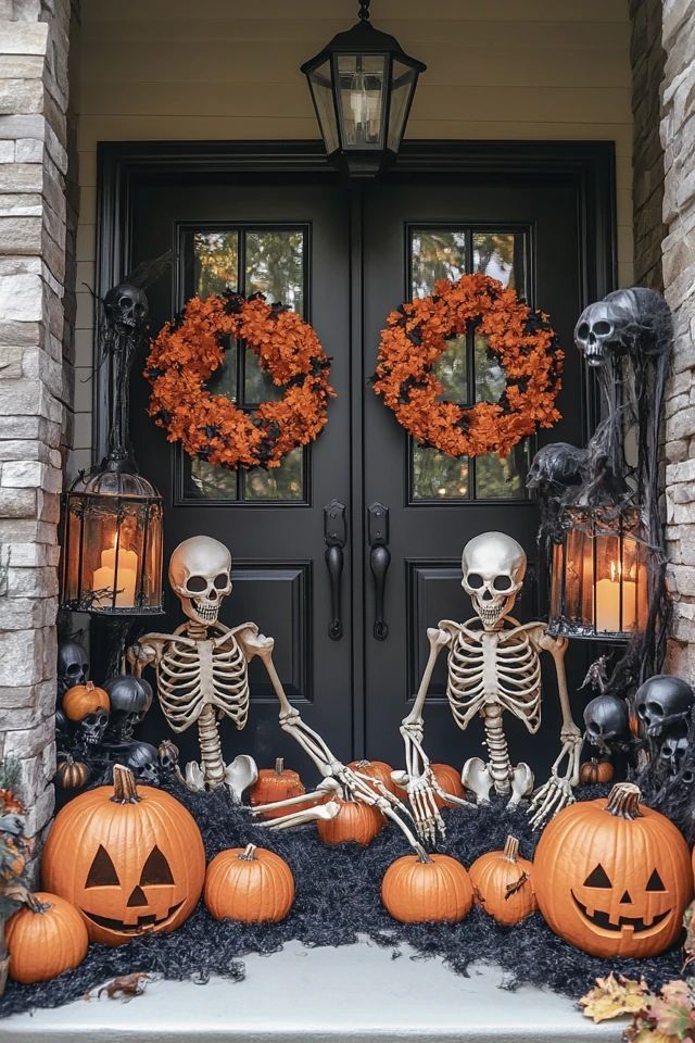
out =
[[687,845],[664,815],[618,782],[608,799],[571,804],[545,827],[532,883],[547,925],[612,959],[656,956],[681,932],[693,895]]

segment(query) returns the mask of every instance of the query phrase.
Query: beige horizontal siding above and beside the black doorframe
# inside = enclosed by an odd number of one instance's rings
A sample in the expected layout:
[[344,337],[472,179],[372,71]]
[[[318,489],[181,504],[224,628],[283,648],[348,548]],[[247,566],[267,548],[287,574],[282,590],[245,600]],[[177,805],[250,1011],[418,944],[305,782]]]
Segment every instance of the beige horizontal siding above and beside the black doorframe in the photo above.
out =
[[[93,286],[97,142],[317,137],[299,66],[352,24],[356,8],[356,0],[84,0],[78,288]],[[616,142],[619,279],[629,285],[627,0],[375,0],[372,15],[428,65],[409,137]],[[93,310],[88,291],[78,298],[75,465],[83,466]]]

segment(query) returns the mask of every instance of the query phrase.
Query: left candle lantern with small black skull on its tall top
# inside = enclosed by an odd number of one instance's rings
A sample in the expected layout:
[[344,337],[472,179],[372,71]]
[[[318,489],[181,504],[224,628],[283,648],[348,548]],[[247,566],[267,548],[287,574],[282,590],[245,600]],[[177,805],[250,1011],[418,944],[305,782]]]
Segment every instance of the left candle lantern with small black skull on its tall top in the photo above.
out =
[[[148,300],[119,284],[101,302],[99,354],[109,366],[109,452],[63,498],[61,607],[100,617],[162,614],[162,498],[128,438],[129,378],[147,336]],[[116,624],[116,626],[118,626]]]

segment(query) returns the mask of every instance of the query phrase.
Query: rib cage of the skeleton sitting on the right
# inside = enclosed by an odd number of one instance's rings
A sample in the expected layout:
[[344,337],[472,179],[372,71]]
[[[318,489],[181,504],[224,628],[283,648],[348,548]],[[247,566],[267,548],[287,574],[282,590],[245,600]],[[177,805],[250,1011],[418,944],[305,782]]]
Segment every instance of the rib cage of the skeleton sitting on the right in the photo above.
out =
[[496,630],[473,629],[475,624],[476,617],[440,623],[452,636],[446,698],[456,724],[467,728],[476,714],[485,717],[492,706],[501,706],[534,734],[541,725],[539,641],[544,625],[519,624],[511,616]]

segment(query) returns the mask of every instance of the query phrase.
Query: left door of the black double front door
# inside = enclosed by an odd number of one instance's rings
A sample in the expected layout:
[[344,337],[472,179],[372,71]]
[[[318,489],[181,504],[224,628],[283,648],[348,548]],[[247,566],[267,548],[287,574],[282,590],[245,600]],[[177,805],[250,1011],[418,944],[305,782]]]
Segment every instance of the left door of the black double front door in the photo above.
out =
[[[226,285],[265,292],[301,312],[332,359],[338,397],[319,439],[292,454],[277,472],[230,472],[191,461],[166,442],[146,415],[149,385],[136,365],[131,436],[142,472],[161,490],[165,511],[165,562],[181,540],[206,533],[231,551],[233,589],[220,620],[254,620],[275,638],[275,662],[291,701],[336,752],[352,753],[352,556],[345,548],[343,638],[328,637],[330,589],[324,562],[323,507],[349,502],[349,206],[329,187],[294,187],[219,178],[195,184],[143,181],[131,203],[131,264],[166,250],[177,254],[170,278],[148,291],[152,329],[180,312],[200,292]],[[143,362],[143,360],[142,360]],[[210,382],[216,393],[251,409],[276,390],[243,345],[230,344],[224,373]],[[178,601],[167,592],[166,619],[157,630],[181,623]],[[285,756],[305,768],[296,744],[280,731],[278,706],[262,664],[251,665],[251,714],[238,733],[220,725],[227,761],[251,752],[261,764]],[[159,707],[148,716],[146,738],[159,739],[166,724]],[[197,756],[194,729],[180,740],[186,758]]]

